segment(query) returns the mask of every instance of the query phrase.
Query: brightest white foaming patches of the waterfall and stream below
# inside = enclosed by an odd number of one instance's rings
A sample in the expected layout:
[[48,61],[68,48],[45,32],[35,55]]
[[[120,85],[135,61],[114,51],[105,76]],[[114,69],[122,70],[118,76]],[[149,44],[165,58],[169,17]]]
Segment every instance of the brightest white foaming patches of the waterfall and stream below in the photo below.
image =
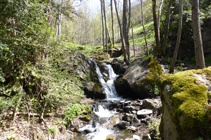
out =
[[[114,86],[114,80],[118,77],[118,75],[114,73],[111,65],[107,65],[104,63],[104,66],[108,68],[108,81],[105,81],[97,63],[94,60],[92,61],[95,64],[96,73],[98,75],[99,82],[102,86],[103,91],[106,94],[106,100],[123,100],[123,98],[119,97],[116,92],[116,89]],[[91,121],[85,127],[80,128],[79,131],[81,132],[89,131],[89,133],[86,134],[87,140],[105,140],[108,135],[111,135],[111,134],[116,135],[116,136],[118,135],[116,134],[114,130],[106,128],[106,125],[109,124],[109,118],[112,117],[117,112],[109,111],[107,108],[103,107],[102,105],[98,105],[97,108],[94,109],[94,113],[97,115],[99,122],[101,119],[106,119],[107,121],[104,124],[100,124],[96,122],[95,125],[93,125],[93,122]],[[134,135],[133,138],[135,139],[135,137],[138,137],[138,136]]]

